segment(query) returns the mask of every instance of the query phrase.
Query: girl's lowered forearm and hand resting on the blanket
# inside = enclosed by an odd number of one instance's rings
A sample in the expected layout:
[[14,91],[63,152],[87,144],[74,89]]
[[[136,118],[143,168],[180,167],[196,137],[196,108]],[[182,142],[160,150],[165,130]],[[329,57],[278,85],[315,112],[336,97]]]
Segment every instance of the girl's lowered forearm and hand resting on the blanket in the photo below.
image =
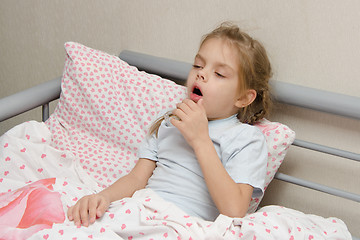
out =
[[103,191],[81,198],[74,206],[68,209],[68,218],[75,225],[88,226],[94,223],[96,217],[101,217],[111,202],[125,197],[131,197],[137,190],[145,188],[151,177],[156,163],[141,158],[128,175],[117,180]]

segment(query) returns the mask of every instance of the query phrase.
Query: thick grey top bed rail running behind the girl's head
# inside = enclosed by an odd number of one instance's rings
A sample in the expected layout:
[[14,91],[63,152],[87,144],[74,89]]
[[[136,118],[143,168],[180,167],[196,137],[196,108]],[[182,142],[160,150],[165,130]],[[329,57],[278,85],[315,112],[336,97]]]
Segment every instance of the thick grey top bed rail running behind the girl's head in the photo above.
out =
[[[156,73],[182,85],[191,69],[190,63],[129,50],[122,51],[120,58],[140,70]],[[271,87],[277,102],[360,119],[360,98],[280,81],[271,81]]]

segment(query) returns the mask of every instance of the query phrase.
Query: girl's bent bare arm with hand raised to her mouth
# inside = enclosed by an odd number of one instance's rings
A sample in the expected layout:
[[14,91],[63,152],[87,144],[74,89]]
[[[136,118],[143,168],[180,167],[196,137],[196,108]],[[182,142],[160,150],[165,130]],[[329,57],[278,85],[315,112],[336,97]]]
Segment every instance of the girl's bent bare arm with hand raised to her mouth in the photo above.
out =
[[202,100],[184,100],[173,112],[181,121],[172,119],[186,141],[193,148],[200,164],[209,193],[221,214],[245,216],[253,193],[248,184],[236,183],[222,165],[209,137],[208,120]]

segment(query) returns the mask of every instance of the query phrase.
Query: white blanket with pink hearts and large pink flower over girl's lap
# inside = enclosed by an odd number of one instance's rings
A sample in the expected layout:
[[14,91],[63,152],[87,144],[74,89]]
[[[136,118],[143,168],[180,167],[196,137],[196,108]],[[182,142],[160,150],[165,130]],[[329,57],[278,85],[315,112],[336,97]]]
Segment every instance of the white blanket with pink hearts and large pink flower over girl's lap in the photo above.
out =
[[51,146],[50,137],[45,124],[27,122],[0,138],[0,239],[351,239],[340,219],[280,206],[204,221],[149,189],[77,228],[67,208],[100,188],[72,153]]

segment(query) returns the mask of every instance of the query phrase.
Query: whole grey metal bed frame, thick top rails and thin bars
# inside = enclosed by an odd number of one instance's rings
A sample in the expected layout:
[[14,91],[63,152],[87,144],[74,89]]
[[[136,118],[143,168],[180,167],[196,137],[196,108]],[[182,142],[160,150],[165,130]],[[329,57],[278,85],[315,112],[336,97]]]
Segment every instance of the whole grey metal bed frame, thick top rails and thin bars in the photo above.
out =
[[[155,73],[161,77],[172,79],[176,83],[182,85],[185,83],[191,68],[191,64],[189,63],[128,50],[122,51],[119,57],[130,65],[136,66],[139,70]],[[61,77],[58,77],[0,99],[0,122],[39,106],[42,106],[42,120],[46,121],[49,117],[49,103],[60,97],[60,86]],[[271,87],[273,89],[273,97],[279,103],[360,120],[359,97],[352,97],[279,81],[272,81]],[[300,139],[296,139],[293,145],[360,162],[360,154],[358,153],[344,151]],[[346,192],[341,189],[328,187],[283,173],[277,173],[275,178],[360,203],[359,194]],[[353,237],[353,239],[360,240],[356,237]]]

